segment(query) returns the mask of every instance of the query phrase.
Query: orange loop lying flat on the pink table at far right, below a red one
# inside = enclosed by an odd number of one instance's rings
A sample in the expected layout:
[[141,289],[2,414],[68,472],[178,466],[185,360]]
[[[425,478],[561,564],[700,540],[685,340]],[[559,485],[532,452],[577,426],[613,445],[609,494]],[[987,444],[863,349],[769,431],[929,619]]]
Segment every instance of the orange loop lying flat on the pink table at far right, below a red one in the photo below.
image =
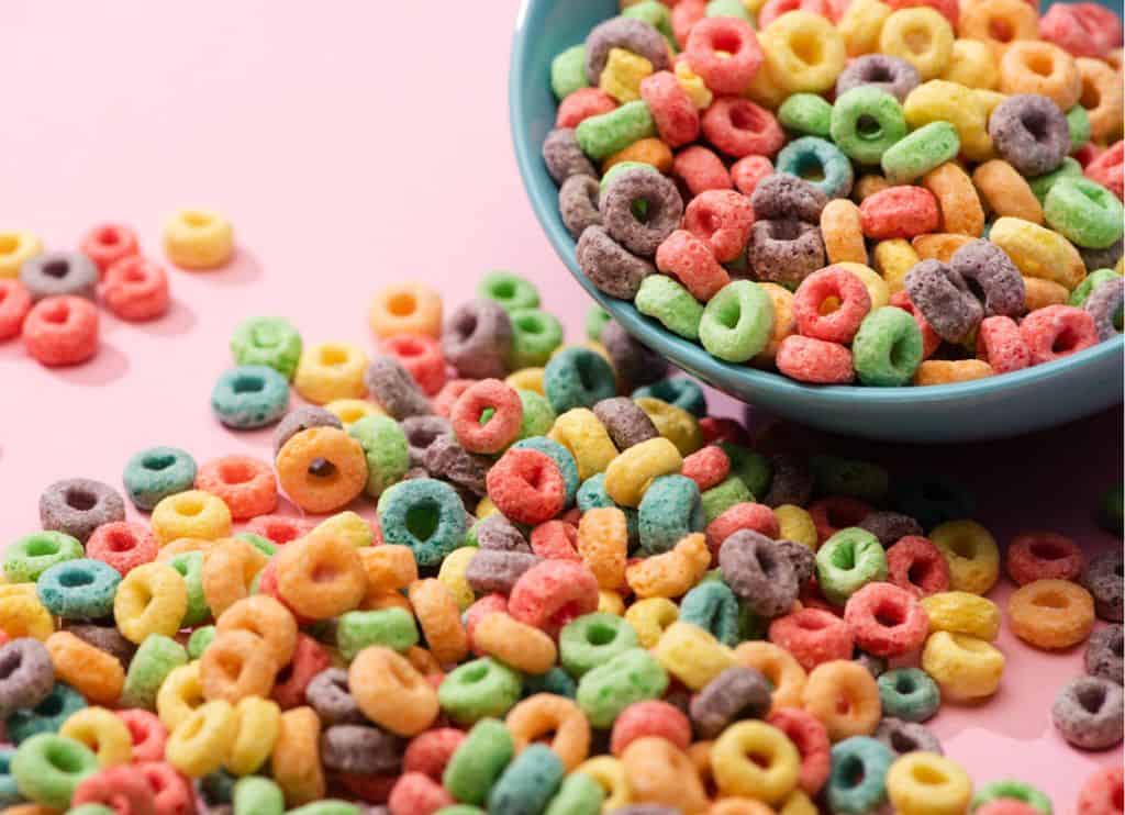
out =
[[1070,648],[1084,642],[1094,628],[1094,597],[1069,580],[1036,580],[1008,598],[1008,625],[1035,648]]

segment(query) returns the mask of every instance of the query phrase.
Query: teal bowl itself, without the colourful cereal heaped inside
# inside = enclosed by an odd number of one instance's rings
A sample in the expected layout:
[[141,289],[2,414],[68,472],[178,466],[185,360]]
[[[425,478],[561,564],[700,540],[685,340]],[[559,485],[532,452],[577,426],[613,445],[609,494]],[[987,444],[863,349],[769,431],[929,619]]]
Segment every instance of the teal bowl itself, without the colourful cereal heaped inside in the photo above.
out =
[[[1104,3],[1108,8],[1108,0]],[[1058,362],[1015,373],[927,388],[817,387],[717,360],[666,330],[632,304],[606,297],[574,259],[558,190],[540,157],[555,123],[554,56],[616,13],[615,0],[523,0],[508,78],[512,139],[523,184],[547,237],[582,287],[637,339],[684,371],[778,416],[850,436],[899,442],[963,442],[1015,436],[1082,418],[1122,401],[1120,336]]]

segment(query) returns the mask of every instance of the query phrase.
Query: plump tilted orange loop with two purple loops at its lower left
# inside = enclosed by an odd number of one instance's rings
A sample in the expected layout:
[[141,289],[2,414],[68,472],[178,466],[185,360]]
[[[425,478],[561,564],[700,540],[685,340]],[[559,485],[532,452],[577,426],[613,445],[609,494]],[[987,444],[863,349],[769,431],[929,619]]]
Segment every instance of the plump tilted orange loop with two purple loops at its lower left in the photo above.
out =
[[348,688],[360,712],[402,736],[417,735],[438,717],[438,691],[405,656],[372,645],[348,669]]

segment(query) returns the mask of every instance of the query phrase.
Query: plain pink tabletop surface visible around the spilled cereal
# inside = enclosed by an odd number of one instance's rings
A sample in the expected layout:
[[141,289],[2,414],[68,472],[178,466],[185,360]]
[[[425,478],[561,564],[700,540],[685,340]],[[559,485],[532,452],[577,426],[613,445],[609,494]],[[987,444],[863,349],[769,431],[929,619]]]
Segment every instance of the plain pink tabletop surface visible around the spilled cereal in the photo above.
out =
[[[69,3],[65,15],[4,4],[0,225],[71,247],[93,223],[119,219],[159,254],[163,216],[213,206],[234,221],[240,251],[223,271],[173,271],[174,306],[159,323],[107,316],[91,364],[48,370],[18,343],[0,345],[0,541],[37,528],[51,481],[117,485],[148,445],[199,461],[268,458],[268,432],[231,433],[209,410],[243,317],[285,315],[306,342],[374,350],[366,310],[380,286],[420,279],[458,302],[500,268],[533,280],[580,337],[587,300],[539,230],[507,135],[515,13],[515,0],[129,0]],[[712,405],[738,413],[726,397]],[[1002,542],[1044,527],[1091,551],[1120,545],[1089,520],[1095,495],[1120,478],[1119,409],[989,445],[843,449],[963,477]],[[1009,592],[1001,585],[992,597]],[[946,706],[933,727],[978,782],[1028,779],[1058,813],[1073,812],[1083,779],[1122,761],[1119,749],[1076,751],[1051,726],[1051,701],[1081,652],[1042,654],[1007,631],[999,645],[1000,692]]]

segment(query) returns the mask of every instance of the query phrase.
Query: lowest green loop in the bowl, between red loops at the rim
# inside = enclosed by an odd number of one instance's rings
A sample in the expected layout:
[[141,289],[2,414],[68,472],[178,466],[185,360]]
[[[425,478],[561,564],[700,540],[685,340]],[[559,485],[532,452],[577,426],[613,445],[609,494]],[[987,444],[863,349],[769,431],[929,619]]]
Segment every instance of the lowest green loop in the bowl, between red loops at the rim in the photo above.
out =
[[918,324],[893,306],[876,308],[864,317],[852,343],[855,372],[864,384],[884,388],[909,384],[922,355]]

